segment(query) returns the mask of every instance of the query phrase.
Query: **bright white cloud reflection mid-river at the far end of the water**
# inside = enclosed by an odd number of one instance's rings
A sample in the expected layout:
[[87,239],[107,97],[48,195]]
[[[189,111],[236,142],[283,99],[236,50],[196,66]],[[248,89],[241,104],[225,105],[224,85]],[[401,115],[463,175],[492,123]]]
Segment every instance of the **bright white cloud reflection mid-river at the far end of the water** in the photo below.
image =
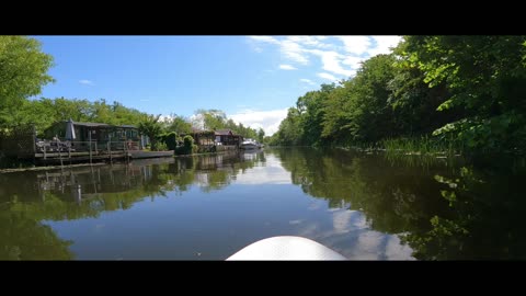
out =
[[272,155],[265,156],[265,167],[254,167],[236,178],[238,184],[291,184],[290,172]]

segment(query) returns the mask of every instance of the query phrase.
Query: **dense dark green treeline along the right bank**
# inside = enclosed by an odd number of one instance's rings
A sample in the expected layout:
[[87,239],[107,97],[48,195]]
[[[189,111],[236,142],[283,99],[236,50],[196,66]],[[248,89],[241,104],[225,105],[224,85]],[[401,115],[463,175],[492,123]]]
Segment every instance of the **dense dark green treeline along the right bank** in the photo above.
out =
[[298,98],[273,145],[382,147],[432,138],[524,152],[526,36],[405,36],[356,76]]

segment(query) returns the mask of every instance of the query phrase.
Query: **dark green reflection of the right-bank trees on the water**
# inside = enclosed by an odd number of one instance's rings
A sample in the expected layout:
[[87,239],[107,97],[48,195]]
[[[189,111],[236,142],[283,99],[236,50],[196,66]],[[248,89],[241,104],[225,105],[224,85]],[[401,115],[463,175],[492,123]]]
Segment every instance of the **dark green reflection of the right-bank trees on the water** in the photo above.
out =
[[[365,214],[422,260],[526,258],[525,171],[403,161],[343,150],[276,149],[294,184]],[[506,166],[501,166],[506,168]]]

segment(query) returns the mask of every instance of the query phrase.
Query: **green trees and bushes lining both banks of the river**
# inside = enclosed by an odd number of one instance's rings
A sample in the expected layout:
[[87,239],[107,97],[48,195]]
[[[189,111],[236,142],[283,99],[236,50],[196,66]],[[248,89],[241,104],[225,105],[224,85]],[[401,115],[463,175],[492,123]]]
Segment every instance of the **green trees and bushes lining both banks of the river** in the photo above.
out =
[[[14,126],[37,136],[71,118],[136,125],[150,149],[196,155],[188,135],[231,129],[267,146],[345,147],[390,156],[524,158],[526,152],[526,36],[403,36],[390,54],[361,62],[356,75],[299,96],[273,136],[237,124],[220,110],[195,116],[152,115],[105,99],[41,98],[54,82],[53,56],[38,41],[0,36],[0,139]],[[0,167],[26,166],[2,156]]]

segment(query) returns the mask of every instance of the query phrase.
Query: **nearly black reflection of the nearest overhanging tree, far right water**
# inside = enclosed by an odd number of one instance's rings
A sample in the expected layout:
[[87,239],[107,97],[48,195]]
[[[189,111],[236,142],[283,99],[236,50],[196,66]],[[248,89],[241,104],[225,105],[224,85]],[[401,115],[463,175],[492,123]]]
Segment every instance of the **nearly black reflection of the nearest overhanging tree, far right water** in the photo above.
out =
[[525,170],[462,167],[453,178],[435,175],[450,205],[431,228],[405,240],[423,259],[526,259]]

